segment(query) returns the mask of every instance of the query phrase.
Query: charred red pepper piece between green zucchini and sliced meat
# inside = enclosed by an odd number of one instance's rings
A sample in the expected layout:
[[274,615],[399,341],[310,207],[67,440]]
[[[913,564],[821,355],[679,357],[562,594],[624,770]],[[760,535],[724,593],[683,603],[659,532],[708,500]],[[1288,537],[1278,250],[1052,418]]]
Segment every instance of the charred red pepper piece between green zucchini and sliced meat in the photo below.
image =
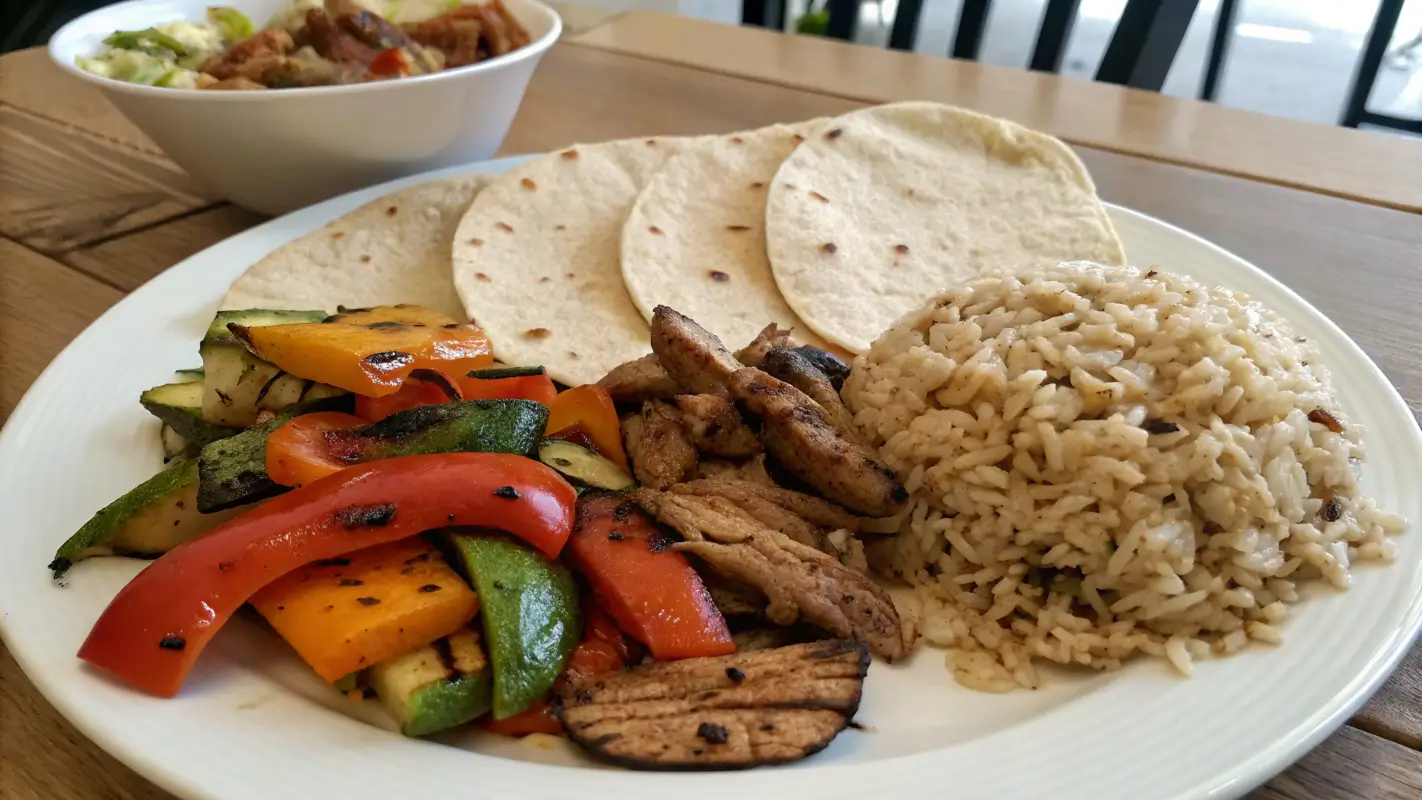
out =
[[670,543],[631,500],[584,492],[567,551],[617,627],[657,661],[735,652],[705,584]]

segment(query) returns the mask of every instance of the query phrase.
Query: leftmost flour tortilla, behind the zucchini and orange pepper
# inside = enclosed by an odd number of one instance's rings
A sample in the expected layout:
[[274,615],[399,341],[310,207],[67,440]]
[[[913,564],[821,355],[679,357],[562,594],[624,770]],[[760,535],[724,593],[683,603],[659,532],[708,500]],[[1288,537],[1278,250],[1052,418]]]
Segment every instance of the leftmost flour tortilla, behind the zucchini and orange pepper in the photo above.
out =
[[464,320],[449,246],[486,175],[385,195],[277,247],[228,288],[220,308],[360,308],[411,303]]

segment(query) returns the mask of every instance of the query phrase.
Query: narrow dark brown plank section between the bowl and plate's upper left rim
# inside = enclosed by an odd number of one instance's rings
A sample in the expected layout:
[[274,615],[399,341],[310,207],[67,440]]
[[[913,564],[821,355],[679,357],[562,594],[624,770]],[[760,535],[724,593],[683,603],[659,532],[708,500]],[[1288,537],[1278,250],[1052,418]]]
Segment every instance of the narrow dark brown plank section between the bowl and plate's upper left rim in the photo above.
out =
[[138,233],[70,250],[58,260],[109,286],[132,291],[188,256],[263,220],[262,215],[223,203]]

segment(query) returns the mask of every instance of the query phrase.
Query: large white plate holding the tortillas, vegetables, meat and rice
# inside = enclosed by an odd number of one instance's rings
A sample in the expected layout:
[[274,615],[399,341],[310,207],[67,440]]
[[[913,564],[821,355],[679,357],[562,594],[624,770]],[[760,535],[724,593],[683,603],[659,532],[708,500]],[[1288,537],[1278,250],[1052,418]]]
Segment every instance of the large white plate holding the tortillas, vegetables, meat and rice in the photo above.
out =
[[[90,625],[142,564],[87,561],[65,587],[50,583],[44,564],[90,514],[158,469],[158,423],[135,401],[173,369],[198,364],[198,338],[228,283],[273,247],[395,186],[510,165],[356,192],[188,259],[90,325],[0,435],[4,639],[64,716],[159,786],[223,800],[1233,797],[1342,723],[1422,622],[1422,534],[1412,531],[1398,540],[1399,564],[1357,568],[1347,593],[1315,591],[1287,622],[1281,647],[1204,661],[1194,678],[1143,659],[1111,675],[1051,674],[1037,692],[984,695],[954,685],[943,654],[924,649],[906,665],[870,669],[859,719],[872,730],[846,732],[789,767],[714,774],[589,769],[562,745],[543,749],[475,730],[439,743],[402,739],[378,708],[337,696],[249,618],[215,639],[178,699],[149,698],[81,666],[74,654]],[[1382,507],[1422,520],[1422,432],[1342,331],[1202,239],[1126,209],[1112,207],[1111,216],[1133,263],[1243,290],[1314,338],[1342,404],[1368,428],[1367,489]]]

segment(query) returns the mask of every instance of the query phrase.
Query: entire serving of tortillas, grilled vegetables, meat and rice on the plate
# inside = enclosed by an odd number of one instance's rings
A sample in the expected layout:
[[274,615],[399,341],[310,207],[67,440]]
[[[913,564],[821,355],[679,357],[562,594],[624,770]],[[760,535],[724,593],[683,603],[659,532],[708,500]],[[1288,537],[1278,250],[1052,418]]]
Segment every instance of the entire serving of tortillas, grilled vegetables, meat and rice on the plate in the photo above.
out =
[[1123,261],[1065,145],[930,104],[402,189],[141,395],[175,463],[51,568],[156,560],[80,656],[172,696],[249,604],[408,736],[738,769],[826,747],[870,655],[1278,642],[1405,523],[1310,342]]

